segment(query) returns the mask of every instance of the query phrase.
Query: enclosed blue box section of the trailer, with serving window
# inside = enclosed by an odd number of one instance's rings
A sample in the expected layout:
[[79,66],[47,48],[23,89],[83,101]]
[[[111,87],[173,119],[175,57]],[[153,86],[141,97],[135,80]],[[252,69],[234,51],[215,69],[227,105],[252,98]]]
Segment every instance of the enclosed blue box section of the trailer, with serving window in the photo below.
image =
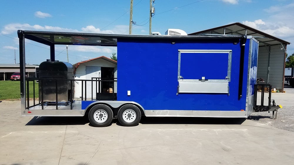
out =
[[[240,43],[233,41],[118,40],[118,70],[124,74],[118,72],[117,98],[139,103],[146,116],[248,117],[253,109],[258,41],[248,38],[246,43],[241,60]],[[181,91],[185,83],[191,91]],[[93,102],[82,101],[82,109]]]

